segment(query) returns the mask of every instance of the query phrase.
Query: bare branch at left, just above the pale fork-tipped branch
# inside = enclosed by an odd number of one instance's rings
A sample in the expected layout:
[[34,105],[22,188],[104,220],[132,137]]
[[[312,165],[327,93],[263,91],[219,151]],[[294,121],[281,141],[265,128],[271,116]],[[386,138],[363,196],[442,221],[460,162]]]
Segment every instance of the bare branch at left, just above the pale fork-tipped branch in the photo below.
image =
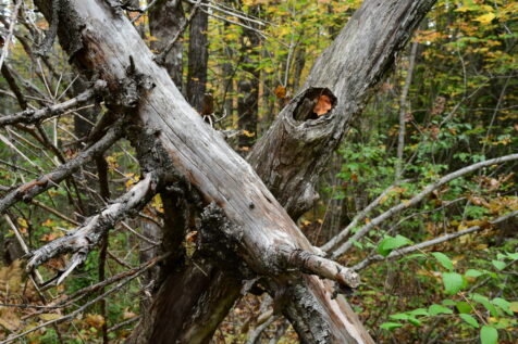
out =
[[122,123],[119,123],[113,126],[102,139],[94,143],[85,151],[82,151],[76,157],[70,160],[65,164],[41,176],[40,178],[17,187],[15,190],[11,191],[5,196],[3,196],[3,199],[0,200],[0,214],[5,212],[11,205],[15,204],[16,202],[29,202],[36,195],[54,187],[63,179],[71,176],[82,165],[88,163],[95,156],[104,152],[121,137],[121,135]]

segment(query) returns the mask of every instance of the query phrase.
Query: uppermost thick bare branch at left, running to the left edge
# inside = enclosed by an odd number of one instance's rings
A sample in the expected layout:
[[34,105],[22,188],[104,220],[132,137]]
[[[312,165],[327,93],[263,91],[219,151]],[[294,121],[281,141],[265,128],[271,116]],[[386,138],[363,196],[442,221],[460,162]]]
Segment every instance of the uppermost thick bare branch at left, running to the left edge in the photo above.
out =
[[38,123],[42,119],[58,116],[69,109],[85,104],[94,97],[99,95],[107,88],[107,82],[102,80],[96,81],[92,88],[78,94],[77,97],[70,99],[63,103],[55,104],[49,107],[40,110],[25,110],[11,116],[0,117],[0,128],[7,125],[13,125],[17,123],[32,124]]

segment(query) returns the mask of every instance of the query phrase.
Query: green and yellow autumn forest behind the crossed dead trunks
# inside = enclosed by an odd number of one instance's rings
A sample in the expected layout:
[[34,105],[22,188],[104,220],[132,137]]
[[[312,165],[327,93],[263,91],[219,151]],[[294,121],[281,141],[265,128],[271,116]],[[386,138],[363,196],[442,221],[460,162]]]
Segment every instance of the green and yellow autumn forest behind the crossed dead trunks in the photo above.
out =
[[[158,2],[155,5],[160,5]],[[186,17],[194,3],[183,2]],[[194,87],[203,89],[202,99],[189,101],[246,155],[273,115],[296,95],[313,61],[360,3],[208,2],[200,7],[208,17],[202,30],[208,49],[206,79],[189,65],[194,60],[189,29],[175,48],[181,53],[181,73],[173,79],[187,99]],[[138,5],[147,9],[145,2]],[[330,240],[344,228],[351,234],[361,232],[372,219],[410,203],[443,176],[517,153],[516,13],[516,1],[436,2],[362,115],[351,122],[319,180],[320,199],[298,220],[314,245],[332,247]],[[148,12],[128,10],[127,15],[151,49],[162,49],[152,35]],[[77,74],[58,42],[45,56],[27,53],[42,44],[49,29],[34,5],[2,1],[0,23],[1,115],[71,98]],[[81,111],[89,109],[104,111],[101,105],[85,104],[34,127],[2,126],[0,192],[5,194],[74,157],[96,122],[82,115]],[[108,191],[110,199],[115,199],[138,181],[140,171],[128,142],[113,145],[104,158]],[[377,342],[516,341],[516,162],[495,164],[459,176],[396,216],[375,222],[367,235],[349,241],[347,250],[333,247],[334,258],[361,270],[362,284],[348,300]],[[91,303],[99,295],[96,291],[66,308],[44,308],[42,313],[23,307],[70,297],[141,264],[143,218],[160,225],[163,208],[159,196],[139,216],[118,225],[104,249],[92,252],[74,278],[59,286],[38,291],[23,273],[18,258],[24,250],[62,237],[83,216],[103,206],[108,198],[102,188],[98,191],[102,183],[98,167],[85,167],[74,182],[29,203],[18,203],[0,219],[0,341],[85,305],[73,319],[27,334],[25,343],[120,342],[138,321],[140,308],[135,301],[141,297],[146,282],[140,277],[106,296],[106,302]],[[366,207],[371,212],[362,212]],[[460,231],[468,234],[454,238]],[[448,234],[454,234],[451,240],[415,246]],[[185,240],[187,250],[194,250],[195,237],[193,227]],[[404,247],[415,250],[398,251]],[[63,258],[54,259],[39,271],[45,280],[63,265]],[[243,298],[212,341],[296,343],[296,333],[282,317],[271,315],[271,305],[263,298]]]

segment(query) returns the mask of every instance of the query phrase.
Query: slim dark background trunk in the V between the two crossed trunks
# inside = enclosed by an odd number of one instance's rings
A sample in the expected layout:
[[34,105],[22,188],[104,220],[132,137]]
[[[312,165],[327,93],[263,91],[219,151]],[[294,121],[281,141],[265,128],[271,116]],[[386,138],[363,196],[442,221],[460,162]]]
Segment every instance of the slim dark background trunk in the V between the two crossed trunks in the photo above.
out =
[[[257,8],[250,10],[250,14],[257,15]],[[255,27],[254,23],[247,25]],[[259,111],[259,71],[254,66],[259,61],[259,36],[250,30],[244,29],[240,37],[240,53],[243,71],[237,81],[237,127],[242,132],[238,138],[238,150],[248,152],[257,140],[257,116]]]

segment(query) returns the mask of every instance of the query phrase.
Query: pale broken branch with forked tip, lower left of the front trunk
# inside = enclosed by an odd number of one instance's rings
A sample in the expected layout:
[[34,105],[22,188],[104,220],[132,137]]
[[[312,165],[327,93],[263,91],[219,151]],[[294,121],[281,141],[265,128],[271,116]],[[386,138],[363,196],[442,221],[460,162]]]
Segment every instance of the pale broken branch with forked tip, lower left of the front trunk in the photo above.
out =
[[27,263],[28,271],[37,268],[50,258],[63,254],[73,253],[66,268],[60,271],[53,279],[47,282],[60,284],[76,266],[86,260],[88,253],[99,243],[102,234],[112,228],[115,222],[125,216],[138,212],[157,193],[160,183],[155,173],[146,175],[132,190],[115,200],[100,214],[89,217],[85,224],[66,237],[59,238],[47,245],[36,250]]

